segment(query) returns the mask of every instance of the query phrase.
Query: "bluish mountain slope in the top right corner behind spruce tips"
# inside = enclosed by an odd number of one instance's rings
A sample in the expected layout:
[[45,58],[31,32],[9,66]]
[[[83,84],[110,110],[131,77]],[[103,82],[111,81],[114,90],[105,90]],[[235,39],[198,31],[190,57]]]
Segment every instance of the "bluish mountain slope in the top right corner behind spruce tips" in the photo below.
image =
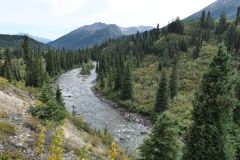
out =
[[197,13],[187,17],[185,21],[194,20],[201,16],[203,10],[206,12],[211,11],[214,19],[218,19],[222,12],[225,12],[228,19],[234,19],[236,17],[237,8],[240,6],[240,0],[217,0],[211,5],[203,8]]

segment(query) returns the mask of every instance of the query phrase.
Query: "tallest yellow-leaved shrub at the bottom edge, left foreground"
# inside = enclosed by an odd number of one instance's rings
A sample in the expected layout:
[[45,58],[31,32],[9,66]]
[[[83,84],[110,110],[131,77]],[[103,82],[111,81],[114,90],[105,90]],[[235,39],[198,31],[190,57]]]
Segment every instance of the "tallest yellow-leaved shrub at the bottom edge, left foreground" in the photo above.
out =
[[50,145],[50,156],[48,160],[62,160],[63,159],[63,145],[62,137],[64,136],[64,131],[60,128],[56,131],[54,139]]

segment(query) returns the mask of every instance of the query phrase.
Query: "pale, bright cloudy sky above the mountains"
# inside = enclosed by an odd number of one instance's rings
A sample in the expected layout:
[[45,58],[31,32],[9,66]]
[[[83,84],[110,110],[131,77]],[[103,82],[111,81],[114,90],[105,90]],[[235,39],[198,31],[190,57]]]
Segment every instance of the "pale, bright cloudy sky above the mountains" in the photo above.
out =
[[95,22],[164,26],[216,0],[0,0],[0,33],[57,39]]

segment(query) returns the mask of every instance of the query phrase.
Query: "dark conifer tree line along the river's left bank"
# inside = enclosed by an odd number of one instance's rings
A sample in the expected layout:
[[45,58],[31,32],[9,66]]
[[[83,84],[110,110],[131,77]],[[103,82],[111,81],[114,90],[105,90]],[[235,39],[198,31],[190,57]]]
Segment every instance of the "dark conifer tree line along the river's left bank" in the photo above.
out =
[[88,49],[79,51],[42,51],[29,47],[25,36],[21,49],[5,49],[2,54],[0,75],[9,81],[23,81],[26,86],[41,87],[47,77],[57,76],[77,65],[87,63],[91,57]]

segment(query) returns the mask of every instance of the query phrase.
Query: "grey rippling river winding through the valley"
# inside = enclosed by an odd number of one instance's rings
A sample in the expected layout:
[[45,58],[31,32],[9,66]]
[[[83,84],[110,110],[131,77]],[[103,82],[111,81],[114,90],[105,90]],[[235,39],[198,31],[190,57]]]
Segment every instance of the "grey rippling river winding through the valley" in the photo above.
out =
[[74,69],[61,75],[57,84],[62,89],[62,96],[67,110],[72,113],[72,106],[93,128],[107,130],[115,140],[131,153],[143,142],[148,130],[141,123],[130,122],[118,110],[101,101],[92,91],[96,80],[96,71],[83,76],[80,69]]

